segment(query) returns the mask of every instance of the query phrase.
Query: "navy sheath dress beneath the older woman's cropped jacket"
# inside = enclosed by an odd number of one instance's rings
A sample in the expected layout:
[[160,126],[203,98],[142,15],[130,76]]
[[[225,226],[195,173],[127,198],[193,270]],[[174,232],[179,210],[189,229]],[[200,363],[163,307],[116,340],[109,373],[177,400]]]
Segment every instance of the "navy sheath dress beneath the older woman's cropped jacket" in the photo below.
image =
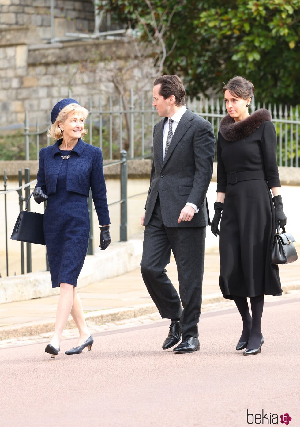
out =
[[[71,151],[63,150],[62,155]],[[44,213],[44,236],[52,287],[60,283],[77,284],[89,243],[87,197],[66,190],[69,161],[61,164],[56,193],[50,194]]]

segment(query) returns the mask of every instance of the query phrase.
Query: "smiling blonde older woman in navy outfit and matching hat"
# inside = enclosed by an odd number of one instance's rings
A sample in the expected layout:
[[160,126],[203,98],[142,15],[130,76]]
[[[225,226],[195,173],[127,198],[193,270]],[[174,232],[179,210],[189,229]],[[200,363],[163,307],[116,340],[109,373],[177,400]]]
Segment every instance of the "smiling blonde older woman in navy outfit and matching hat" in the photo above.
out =
[[[48,136],[57,139],[40,150],[35,201],[48,199],[44,214],[46,242],[52,287],[60,287],[55,333],[45,351],[54,358],[60,351],[63,329],[71,313],[79,330],[77,346],[66,354],[78,354],[93,338],[87,328],[82,304],[76,291],[89,241],[89,189],[101,227],[101,250],[110,244],[110,217],[103,174],[102,153],[85,143],[84,121],[88,111],[75,99],[62,99],[52,110]],[[59,139],[58,139],[59,138]]]

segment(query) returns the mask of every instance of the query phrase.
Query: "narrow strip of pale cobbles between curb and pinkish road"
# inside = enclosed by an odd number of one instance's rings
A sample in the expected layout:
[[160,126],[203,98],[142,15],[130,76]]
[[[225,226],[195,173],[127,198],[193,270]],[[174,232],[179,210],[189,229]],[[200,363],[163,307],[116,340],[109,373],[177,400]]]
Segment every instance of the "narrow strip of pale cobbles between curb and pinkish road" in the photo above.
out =
[[[265,295],[265,302],[278,302],[282,299],[295,299],[300,298],[300,290],[291,290],[286,293],[283,293],[281,298],[272,295]],[[234,301],[224,300],[222,302],[217,302],[213,304],[203,304],[201,307],[201,312],[213,312],[213,311],[221,311],[228,310],[230,308],[235,307]],[[249,304],[250,307],[250,304]],[[89,331],[91,334],[99,333],[104,331],[116,330],[116,329],[124,329],[124,328],[133,328],[141,325],[149,325],[151,323],[159,323],[165,322],[166,319],[162,319],[159,313],[147,314],[145,316],[138,316],[132,319],[124,319],[118,322],[105,323],[103,325],[96,325],[91,320],[87,320],[87,325],[89,327]],[[19,347],[21,345],[30,345],[30,344],[38,344],[42,342],[49,342],[51,339],[53,332],[41,333],[36,336],[23,336],[21,338],[13,338],[6,339],[0,341],[0,349],[8,348],[8,347]],[[78,330],[74,329],[66,329],[63,332],[63,339],[77,338]]]

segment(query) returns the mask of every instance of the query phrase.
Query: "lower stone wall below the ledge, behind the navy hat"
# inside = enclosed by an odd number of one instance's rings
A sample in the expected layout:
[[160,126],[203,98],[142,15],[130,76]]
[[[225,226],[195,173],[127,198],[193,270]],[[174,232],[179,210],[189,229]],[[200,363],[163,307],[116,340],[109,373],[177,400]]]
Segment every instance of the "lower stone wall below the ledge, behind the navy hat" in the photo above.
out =
[[96,103],[101,91],[113,91],[105,70],[112,49],[121,59],[128,45],[94,40],[0,48],[0,126],[23,123],[26,110],[31,123],[37,118],[45,122],[49,110],[69,91],[82,105],[88,107],[93,95]]

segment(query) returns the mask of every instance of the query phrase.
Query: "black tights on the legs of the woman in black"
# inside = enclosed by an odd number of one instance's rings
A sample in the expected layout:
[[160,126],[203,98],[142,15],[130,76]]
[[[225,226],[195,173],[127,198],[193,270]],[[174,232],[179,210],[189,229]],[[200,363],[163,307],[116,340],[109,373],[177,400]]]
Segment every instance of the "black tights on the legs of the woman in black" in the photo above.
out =
[[242,316],[243,330],[239,341],[248,341],[247,348],[258,348],[261,340],[260,323],[263,310],[263,295],[250,297],[252,319],[249,312],[247,298],[234,296],[239,314]]

